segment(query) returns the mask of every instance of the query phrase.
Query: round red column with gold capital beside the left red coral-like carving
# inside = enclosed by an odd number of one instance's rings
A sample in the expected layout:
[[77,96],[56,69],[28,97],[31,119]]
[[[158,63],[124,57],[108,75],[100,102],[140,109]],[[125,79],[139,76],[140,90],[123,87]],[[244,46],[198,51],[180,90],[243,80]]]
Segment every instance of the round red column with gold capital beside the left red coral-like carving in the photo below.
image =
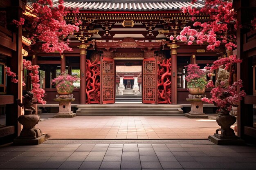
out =
[[85,64],[86,64],[86,54],[87,54],[87,44],[81,44],[80,49],[80,104],[85,104]]

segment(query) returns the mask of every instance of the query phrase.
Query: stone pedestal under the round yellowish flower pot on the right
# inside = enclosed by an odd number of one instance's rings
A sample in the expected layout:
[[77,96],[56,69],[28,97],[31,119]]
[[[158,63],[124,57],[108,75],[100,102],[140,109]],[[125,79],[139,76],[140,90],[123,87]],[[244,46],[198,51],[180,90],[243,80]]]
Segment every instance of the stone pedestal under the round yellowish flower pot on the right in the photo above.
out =
[[186,113],[185,116],[189,118],[207,119],[208,116],[205,115],[203,112],[203,102],[201,100],[201,96],[200,98],[195,98],[194,96],[196,95],[189,95],[189,99],[186,99],[186,101],[191,103],[191,111],[189,113]]

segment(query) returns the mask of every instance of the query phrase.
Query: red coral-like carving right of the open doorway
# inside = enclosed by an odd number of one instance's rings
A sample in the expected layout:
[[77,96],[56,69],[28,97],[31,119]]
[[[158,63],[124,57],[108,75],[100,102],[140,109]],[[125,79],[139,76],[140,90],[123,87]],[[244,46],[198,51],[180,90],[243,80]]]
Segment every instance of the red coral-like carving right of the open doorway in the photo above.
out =
[[171,104],[171,58],[157,64],[157,103]]

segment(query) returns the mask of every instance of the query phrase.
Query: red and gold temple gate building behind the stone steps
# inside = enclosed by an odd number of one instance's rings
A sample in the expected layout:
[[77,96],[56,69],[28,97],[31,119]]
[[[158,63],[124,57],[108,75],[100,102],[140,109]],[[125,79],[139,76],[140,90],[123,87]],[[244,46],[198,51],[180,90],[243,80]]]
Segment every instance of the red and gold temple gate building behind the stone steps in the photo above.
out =
[[[53,2],[58,5],[57,0]],[[65,71],[80,76],[72,104],[113,104],[116,96],[128,90],[141,95],[144,104],[189,104],[184,66],[198,64],[203,68],[225,54],[224,48],[207,51],[206,44],[188,46],[175,40],[184,26],[208,18],[199,13],[192,21],[189,14],[181,13],[182,7],[191,5],[184,0],[67,0],[64,5],[79,7],[77,15],[83,22],[79,31],[70,35],[73,51],[62,55],[43,53],[38,46],[28,56],[40,66],[47,104],[56,104],[56,89],[51,81]],[[200,1],[193,4],[202,5]],[[73,22],[74,18],[69,13],[65,19]],[[138,66],[141,72],[135,69],[121,73],[118,69],[122,66]],[[206,89],[205,94],[209,92]]]

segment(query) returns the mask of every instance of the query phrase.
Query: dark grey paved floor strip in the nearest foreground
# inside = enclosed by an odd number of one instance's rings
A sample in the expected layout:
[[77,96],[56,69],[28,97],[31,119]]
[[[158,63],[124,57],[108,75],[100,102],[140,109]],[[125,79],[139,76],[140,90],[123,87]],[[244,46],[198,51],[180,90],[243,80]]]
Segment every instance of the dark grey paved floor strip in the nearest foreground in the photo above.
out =
[[0,170],[249,170],[256,148],[214,144],[40,144],[0,147]]

